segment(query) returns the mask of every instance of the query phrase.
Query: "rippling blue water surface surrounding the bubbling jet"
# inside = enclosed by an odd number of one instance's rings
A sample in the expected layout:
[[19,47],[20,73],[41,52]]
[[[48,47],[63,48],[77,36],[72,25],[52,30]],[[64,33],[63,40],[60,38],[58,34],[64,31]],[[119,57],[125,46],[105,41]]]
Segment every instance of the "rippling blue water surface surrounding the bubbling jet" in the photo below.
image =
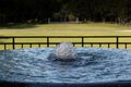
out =
[[131,79],[131,50],[76,48],[74,61],[53,57],[55,48],[0,51],[0,79],[39,83],[98,83]]

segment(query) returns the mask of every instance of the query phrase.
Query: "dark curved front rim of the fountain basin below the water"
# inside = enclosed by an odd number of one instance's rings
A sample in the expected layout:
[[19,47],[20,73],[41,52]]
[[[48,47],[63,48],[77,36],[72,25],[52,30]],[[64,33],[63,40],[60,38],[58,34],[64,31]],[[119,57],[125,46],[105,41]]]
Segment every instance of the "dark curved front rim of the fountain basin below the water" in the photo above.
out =
[[100,83],[35,83],[0,80],[2,87],[130,87],[131,80],[112,80]]

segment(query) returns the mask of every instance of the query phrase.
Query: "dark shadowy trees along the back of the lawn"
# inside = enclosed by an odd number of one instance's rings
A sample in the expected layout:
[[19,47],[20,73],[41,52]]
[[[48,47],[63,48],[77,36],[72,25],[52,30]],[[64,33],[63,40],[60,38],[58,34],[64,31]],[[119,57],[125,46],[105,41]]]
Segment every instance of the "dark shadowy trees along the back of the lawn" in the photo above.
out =
[[51,21],[131,21],[131,0],[0,0],[0,25]]

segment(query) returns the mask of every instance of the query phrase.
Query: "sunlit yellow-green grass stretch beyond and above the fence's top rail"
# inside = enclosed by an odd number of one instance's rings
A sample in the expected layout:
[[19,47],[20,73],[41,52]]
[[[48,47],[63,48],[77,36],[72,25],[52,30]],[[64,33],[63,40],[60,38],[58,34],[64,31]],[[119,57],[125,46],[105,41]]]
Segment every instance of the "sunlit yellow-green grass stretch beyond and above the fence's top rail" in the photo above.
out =
[[28,27],[28,25],[22,28],[22,25],[12,26],[12,28],[0,28],[0,35],[2,36],[25,36],[25,35],[130,35],[131,33],[123,33],[121,30],[131,29],[130,26],[121,26],[116,24],[104,24],[104,23],[91,23],[91,24],[41,24]]

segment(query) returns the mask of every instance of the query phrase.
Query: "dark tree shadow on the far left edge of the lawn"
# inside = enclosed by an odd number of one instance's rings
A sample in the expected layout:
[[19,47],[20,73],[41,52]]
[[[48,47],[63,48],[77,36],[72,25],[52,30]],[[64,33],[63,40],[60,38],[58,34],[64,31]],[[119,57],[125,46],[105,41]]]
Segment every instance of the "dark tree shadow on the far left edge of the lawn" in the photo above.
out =
[[37,27],[36,24],[9,24],[7,26],[0,26],[0,29],[28,29]]

